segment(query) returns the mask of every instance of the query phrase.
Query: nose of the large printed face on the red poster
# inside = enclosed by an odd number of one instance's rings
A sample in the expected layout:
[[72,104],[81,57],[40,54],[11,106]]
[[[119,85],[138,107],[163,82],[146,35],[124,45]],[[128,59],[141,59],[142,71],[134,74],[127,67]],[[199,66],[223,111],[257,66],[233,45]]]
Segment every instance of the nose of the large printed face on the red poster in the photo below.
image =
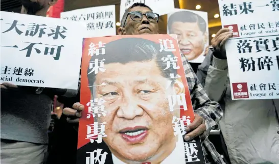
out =
[[143,116],[144,110],[138,105],[138,101],[133,100],[131,97],[126,98],[124,102],[120,105],[117,112],[119,118],[124,118],[127,120],[132,120],[137,116]]

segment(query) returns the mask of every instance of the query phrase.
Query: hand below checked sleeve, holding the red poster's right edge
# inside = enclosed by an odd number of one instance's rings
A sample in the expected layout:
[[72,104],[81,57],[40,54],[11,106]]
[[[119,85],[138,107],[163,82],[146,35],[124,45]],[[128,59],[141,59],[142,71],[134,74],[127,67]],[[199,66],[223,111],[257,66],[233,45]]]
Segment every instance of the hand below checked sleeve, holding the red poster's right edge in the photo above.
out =
[[193,140],[196,136],[199,136],[206,130],[203,118],[198,114],[195,114],[194,121],[187,126],[185,130],[187,131],[187,134],[184,137],[185,141]]

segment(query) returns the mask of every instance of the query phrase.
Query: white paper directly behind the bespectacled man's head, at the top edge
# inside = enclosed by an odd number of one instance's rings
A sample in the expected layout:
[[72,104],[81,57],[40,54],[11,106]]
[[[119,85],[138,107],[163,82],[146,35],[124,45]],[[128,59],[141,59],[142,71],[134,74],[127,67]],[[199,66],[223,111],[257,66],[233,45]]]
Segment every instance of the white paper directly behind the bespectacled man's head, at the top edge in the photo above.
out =
[[174,0],[121,0],[119,20],[122,19],[126,9],[134,3],[144,3],[159,15],[168,14],[174,10]]

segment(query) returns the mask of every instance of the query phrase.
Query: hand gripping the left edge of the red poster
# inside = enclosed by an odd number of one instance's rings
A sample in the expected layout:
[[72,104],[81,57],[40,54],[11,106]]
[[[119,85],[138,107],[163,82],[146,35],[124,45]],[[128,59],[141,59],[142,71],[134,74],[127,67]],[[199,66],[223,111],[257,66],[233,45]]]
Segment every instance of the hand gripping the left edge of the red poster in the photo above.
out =
[[67,116],[68,123],[79,123],[79,118],[81,117],[81,112],[84,110],[84,106],[76,102],[73,105],[73,108],[65,107],[63,109],[63,114]]

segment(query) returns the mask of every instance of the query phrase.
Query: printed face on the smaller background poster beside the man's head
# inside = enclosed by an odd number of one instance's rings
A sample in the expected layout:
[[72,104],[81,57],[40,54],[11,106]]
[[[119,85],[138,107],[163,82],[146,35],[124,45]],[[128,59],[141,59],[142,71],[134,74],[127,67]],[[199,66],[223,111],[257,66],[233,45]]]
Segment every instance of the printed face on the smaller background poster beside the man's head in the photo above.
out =
[[185,57],[191,61],[202,54],[207,42],[207,33],[201,32],[197,22],[173,22],[171,34],[176,34],[179,48]]

